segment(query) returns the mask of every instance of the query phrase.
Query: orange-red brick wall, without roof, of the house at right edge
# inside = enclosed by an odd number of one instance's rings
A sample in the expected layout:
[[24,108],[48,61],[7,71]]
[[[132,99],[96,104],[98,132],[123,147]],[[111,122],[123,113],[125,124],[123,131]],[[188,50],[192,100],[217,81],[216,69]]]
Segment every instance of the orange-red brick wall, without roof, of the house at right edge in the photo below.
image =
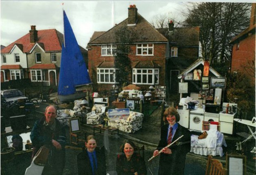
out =
[[238,50],[236,50],[236,43],[234,43],[232,48],[231,73],[234,71],[239,72],[244,74],[246,78],[250,78],[251,81],[255,82],[255,78],[248,76],[248,70],[245,68],[249,67],[248,62],[253,60],[255,61],[255,33],[241,40]]

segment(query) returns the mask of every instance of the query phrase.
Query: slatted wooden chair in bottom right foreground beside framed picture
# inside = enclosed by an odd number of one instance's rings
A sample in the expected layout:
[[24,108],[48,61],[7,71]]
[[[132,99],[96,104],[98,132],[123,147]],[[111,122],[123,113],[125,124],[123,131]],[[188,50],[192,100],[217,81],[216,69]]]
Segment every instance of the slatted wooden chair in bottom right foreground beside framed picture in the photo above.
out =
[[209,155],[205,175],[227,175],[227,169],[223,168],[219,160]]

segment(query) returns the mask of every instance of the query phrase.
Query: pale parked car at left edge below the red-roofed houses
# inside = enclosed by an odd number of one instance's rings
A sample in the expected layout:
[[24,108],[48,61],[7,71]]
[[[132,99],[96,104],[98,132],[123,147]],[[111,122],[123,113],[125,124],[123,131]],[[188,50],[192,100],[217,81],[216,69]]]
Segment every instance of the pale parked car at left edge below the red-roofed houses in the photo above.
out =
[[2,90],[1,97],[4,97],[4,99],[7,102],[13,102],[13,101],[24,102],[26,101],[26,99],[28,99],[28,97],[25,97],[25,95],[23,95],[23,93],[18,89]]

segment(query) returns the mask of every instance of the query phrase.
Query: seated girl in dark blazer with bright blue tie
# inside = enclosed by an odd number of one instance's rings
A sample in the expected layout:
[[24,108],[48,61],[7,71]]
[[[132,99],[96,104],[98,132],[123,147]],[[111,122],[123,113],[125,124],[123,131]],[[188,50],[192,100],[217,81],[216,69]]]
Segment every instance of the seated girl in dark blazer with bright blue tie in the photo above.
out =
[[93,135],[87,137],[85,146],[86,149],[77,156],[78,175],[106,175],[104,148],[96,147]]

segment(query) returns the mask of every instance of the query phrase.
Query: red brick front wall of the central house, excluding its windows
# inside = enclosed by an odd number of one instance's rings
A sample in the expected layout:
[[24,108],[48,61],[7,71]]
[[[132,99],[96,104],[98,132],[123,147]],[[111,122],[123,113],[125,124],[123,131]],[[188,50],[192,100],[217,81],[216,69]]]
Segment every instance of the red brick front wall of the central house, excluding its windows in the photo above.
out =
[[[161,66],[159,74],[159,85],[165,85],[165,51],[166,44],[154,44],[154,56],[137,56],[136,55],[136,44],[131,46],[131,53],[128,55],[132,61],[154,61]],[[88,50],[88,69],[93,86],[97,84],[97,72],[96,65],[100,64],[102,61],[114,61],[113,56],[101,56],[101,46],[91,46]],[[132,72],[131,72],[132,74]],[[98,91],[104,89],[111,89],[113,84],[97,84]],[[143,85],[138,85],[143,87]],[[145,85],[148,88],[149,85]]]

